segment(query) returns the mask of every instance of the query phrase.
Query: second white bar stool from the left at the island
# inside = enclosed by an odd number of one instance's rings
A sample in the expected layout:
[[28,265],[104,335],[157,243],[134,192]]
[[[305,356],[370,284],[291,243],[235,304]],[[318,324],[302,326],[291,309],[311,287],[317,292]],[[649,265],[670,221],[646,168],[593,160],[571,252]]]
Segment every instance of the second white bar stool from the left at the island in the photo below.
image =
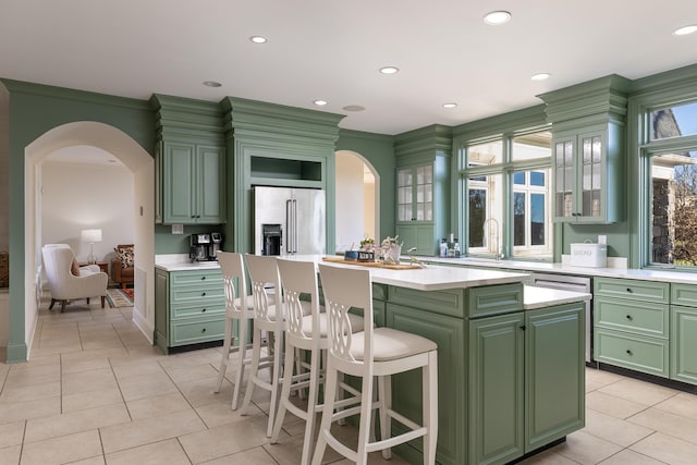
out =
[[[271,437],[278,408],[283,331],[285,330],[281,283],[274,256],[245,254],[245,259],[252,283],[252,296],[254,297],[254,335],[252,338],[249,378],[242,402],[242,415],[247,414],[255,387],[270,391],[271,403],[266,436]],[[269,292],[270,289],[273,290],[273,293]],[[265,357],[261,357],[261,331],[265,331],[268,338],[268,353]],[[265,368],[271,369],[269,381],[259,377],[259,371]]]

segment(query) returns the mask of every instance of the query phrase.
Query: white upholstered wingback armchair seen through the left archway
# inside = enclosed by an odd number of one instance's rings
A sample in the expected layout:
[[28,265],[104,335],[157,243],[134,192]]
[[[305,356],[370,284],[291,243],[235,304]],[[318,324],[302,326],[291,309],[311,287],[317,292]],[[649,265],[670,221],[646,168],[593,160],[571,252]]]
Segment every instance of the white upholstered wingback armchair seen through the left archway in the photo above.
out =
[[48,286],[51,292],[51,305],[61,303],[61,311],[65,309],[65,303],[75,298],[101,297],[101,308],[105,308],[107,297],[107,283],[109,277],[100,271],[96,265],[80,268],[80,276],[71,272],[74,261],[73,250],[66,244],[47,244],[41,248],[44,268],[48,278]]

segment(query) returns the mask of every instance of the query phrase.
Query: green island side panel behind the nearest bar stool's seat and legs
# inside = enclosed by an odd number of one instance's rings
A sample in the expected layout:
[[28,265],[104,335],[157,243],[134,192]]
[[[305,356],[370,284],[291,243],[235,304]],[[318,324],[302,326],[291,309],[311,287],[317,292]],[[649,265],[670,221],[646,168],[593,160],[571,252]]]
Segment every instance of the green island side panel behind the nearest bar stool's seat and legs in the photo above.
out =
[[[387,304],[387,327],[420,334],[438,344],[438,449],[439,464],[462,464],[465,457],[465,399],[463,377],[464,320],[396,304]],[[392,404],[400,414],[421,421],[421,370],[392,377]],[[393,424],[395,432],[404,432]],[[412,463],[421,458],[421,440],[396,452]],[[418,451],[418,453],[416,453]]]

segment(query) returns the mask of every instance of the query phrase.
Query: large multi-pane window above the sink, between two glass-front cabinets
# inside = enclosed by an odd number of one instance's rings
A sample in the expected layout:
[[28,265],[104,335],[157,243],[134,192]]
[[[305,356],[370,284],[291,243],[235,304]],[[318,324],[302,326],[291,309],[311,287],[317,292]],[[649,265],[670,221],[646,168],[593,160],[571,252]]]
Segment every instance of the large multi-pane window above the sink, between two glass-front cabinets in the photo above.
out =
[[465,145],[461,203],[467,255],[552,258],[549,131]]

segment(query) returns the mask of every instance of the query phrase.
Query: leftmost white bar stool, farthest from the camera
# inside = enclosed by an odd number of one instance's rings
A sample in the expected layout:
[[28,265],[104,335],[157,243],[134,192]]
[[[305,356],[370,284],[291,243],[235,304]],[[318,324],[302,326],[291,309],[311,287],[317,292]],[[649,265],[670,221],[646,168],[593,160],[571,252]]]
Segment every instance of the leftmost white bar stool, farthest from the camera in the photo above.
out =
[[[244,366],[252,360],[247,358],[246,353],[248,345],[246,343],[248,322],[254,319],[254,297],[247,295],[247,283],[244,272],[244,264],[242,255],[235,252],[218,252],[218,262],[222,271],[223,287],[225,295],[225,340],[222,346],[222,357],[220,368],[218,369],[218,381],[213,392],[220,392],[222,380],[225,377],[225,370],[230,362],[230,354],[237,353],[237,359],[234,366],[236,372],[234,375],[234,390],[232,392],[232,409],[237,408],[237,397],[240,395],[240,387],[244,378]],[[236,281],[236,290],[235,290]],[[233,334],[233,322],[237,322],[239,335]],[[236,340],[236,345],[235,345]]]

